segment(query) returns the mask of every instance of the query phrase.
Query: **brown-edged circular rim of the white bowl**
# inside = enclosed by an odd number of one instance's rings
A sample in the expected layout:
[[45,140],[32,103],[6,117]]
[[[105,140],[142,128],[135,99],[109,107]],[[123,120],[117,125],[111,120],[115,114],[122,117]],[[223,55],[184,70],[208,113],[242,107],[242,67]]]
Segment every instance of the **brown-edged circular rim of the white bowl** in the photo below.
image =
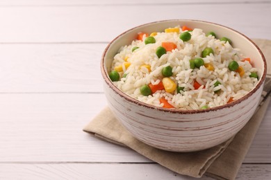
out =
[[[122,35],[129,33],[131,30],[134,30],[136,28],[140,28],[142,26],[147,26],[150,24],[160,24],[163,22],[168,22],[168,21],[193,21],[193,22],[202,22],[205,24],[214,24],[216,26],[221,26],[222,28],[227,28],[229,30],[232,30],[235,33],[238,33],[239,35],[245,37],[245,39],[247,39],[249,42],[251,42],[257,49],[258,53],[260,53],[262,60],[263,60],[263,73],[261,75],[261,79],[258,81],[258,83],[256,84],[256,87],[254,87],[251,91],[249,91],[249,93],[245,94],[245,96],[238,98],[237,100],[234,100],[232,102],[227,103],[226,105],[220,105],[217,107],[211,107],[208,109],[174,109],[174,108],[164,108],[164,107],[156,107],[154,105],[149,105],[145,102],[141,102],[140,100],[137,100],[136,98],[132,98],[131,96],[127,95],[126,93],[124,93],[123,91],[121,91],[120,89],[118,89],[110,80],[108,73],[106,73],[106,69],[104,66],[104,62],[105,62],[105,55],[108,52],[108,48],[117,40],[119,39]],[[135,26],[133,28],[130,28],[129,30],[125,30],[123,33],[121,33],[120,35],[117,35],[117,37],[115,37],[111,42],[109,42],[109,44],[106,46],[104,53],[101,56],[101,75],[104,78],[106,84],[108,84],[108,87],[110,87],[110,89],[112,89],[113,91],[115,91],[115,93],[119,94],[120,96],[122,96],[122,98],[124,98],[126,101],[132,102],[138,106],[142,106],[148,109],[156,109],[158,111],[164,111],[164,112],[169,112],[169,113],[173,113],[173,114],[200,114],[200,113],[204,113],[204,112],[208,112],[208,111],[217,111],[217,110],[222,110],[225,108],[229,108],[229,107],[233,107],[235,105],[240,104],[240,102],[243,102],[244,100],[247,100],[247,98],[249,98],[250,96],[252,96],[253,93],[255,93],[263,84],[263,82],[265,82],[265,77],[266,77],[266,73],[267,73],[267,63],[265,60],[265,56],[263,55],[261,49],[252,41],[252,39],[249,39],[249,37],[247,37],[246,35],[243,35],[243,33],[238,32],[237,30],[234,30],[232,28],[229,28],[227,26],[221,25],[221,24],[217,24],[217,23],[213,23],[210,21],[202,21],[202,20],[195,20],[195,19],[167,19],[167,20],[161,20],[161,21],[152,21],[146,24],[142,24],[139,26]]]

